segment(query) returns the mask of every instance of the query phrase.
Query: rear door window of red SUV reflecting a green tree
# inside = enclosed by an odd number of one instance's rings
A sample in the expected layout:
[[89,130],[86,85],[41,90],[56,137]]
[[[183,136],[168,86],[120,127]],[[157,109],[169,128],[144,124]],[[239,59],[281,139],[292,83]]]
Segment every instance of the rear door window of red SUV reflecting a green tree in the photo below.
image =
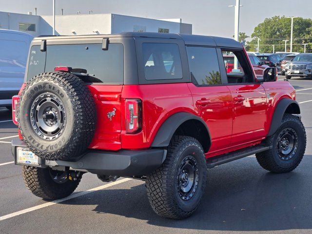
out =
[[187,46],[186,51],[195,85],[222,84],[215,48]]

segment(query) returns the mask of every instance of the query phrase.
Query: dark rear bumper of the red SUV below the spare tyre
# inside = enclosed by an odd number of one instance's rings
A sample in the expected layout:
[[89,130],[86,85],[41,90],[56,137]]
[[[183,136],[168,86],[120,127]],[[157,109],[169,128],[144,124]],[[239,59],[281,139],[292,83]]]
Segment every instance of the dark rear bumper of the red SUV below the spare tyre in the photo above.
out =
[[[19,147],[27,148],[24,141],[12,140],[15,164],[29,166],[29,164],[18,163],[17,149]],[[90,150],[77,161],[50,161],[39,158],[39,165],[35,165],[35,167],[69,167],[71,170],[108,176],[145,176],[163,163],[166,154],[167,150],[163,149],[120,150],[117,152]]]

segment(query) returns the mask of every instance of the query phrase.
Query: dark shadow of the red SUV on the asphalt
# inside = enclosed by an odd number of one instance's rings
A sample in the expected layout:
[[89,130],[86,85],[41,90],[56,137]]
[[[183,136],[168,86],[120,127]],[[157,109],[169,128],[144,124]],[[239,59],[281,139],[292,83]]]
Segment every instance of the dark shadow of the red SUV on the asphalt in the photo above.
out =
[[97,205],[94,211],[98,214],[132,217],[147,220],[151,225],[180,229],[312,229],[312,171],[309,169],[312,155],[306,155],[305,162],[288,174],[266,172],[254,157],[243,160],[242,163],[229,163],[208,171],[201,205],[194,215],[184,220],[156,215],[149,206],[144,184],[131,189],[102,190],[88,195],[87,199],[75,199],[64,204]]

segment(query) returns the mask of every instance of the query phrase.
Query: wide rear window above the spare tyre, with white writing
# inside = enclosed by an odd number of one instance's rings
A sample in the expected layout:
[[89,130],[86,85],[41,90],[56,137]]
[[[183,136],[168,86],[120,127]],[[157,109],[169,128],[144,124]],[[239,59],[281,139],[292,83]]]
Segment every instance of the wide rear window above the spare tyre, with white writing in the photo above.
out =
[[97,82],[122,84],[123,45],[111,43],[108,50],[102,50],[102,44],[48,45],[46,52],[41,52],[40,46],[32,46],[27,79],[52,72],[56,66],[86,69]]

